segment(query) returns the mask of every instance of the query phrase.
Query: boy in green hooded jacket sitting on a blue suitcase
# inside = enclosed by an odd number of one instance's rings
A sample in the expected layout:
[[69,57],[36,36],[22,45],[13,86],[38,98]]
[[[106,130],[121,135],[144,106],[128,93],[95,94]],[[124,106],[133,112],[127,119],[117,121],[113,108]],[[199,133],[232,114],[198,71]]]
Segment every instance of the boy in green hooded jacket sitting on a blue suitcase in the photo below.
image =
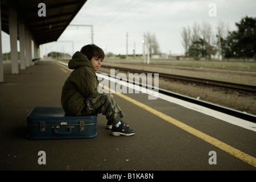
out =
[[75,70],[65,81],[61,105],[68,115],[104,114],[108,119],[107,128],[112,129],[114,136],[134,135],[136,131],[122,121],[124,114],[112,94],[98,93],[95,71],[101,67],[104,57],[104,51],[94,44],[82,47],[72,56],[68,68]]

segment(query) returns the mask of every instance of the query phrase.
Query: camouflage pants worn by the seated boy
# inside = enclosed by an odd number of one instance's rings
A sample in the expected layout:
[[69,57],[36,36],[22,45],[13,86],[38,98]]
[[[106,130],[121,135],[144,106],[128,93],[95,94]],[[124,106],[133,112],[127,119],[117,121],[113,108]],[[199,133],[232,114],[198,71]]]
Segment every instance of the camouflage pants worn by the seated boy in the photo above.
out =
[[106,119],[116,125],[125,114],[109,94],[99,94],[95,98],[86,100],[86,107],[81,111],[84,115],[103,114]]

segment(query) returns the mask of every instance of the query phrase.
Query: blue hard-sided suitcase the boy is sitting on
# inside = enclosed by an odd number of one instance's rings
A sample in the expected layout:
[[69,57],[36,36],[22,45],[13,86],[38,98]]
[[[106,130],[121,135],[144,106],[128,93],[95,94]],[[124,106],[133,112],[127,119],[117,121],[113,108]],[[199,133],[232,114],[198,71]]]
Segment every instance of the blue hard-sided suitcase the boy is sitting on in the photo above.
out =
[[93,138],[96,123],[97,115],[68,116],[62,107],[34,107],[27,114],[27,138]]

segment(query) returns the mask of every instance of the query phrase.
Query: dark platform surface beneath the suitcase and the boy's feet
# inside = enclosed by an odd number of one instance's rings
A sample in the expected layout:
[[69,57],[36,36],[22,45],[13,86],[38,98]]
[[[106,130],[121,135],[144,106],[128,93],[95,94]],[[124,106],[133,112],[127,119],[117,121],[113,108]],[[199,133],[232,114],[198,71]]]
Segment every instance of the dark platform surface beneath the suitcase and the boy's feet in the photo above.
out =
[[[105,129],[104,115],[98,115],[97,137],[90,139],[29,140],[26,115],[35,106],[61,106],[60,96],[70,71],[51,60],[10,74],[4,64],[0,84],[0,169],[71,171],[255,171],[256,132],[147,94],[123,94],[212,138],[212,143],[173,125],[139,105],[114,94],[125,113],[124,121],[137,130],[132,137],[113,137]],[[183,126],[183,125],[182,125]],[[214,140],[216,139],[216,140]],[[227,147],[230,146],[230,147]],[[232,148],[232,147],[233,148]],[[226,148],[226,149],[225,149]],[[39,164],[39,151],[46,152],[46,164]],[[217,164],[209,164],[210,151]],[[229,152],[227,152],[229,151]],[[231,154],[233,152],[233,154]],[[245,161],[249,159],[251,162]],[[153,172],[154,173],[154,172]]]

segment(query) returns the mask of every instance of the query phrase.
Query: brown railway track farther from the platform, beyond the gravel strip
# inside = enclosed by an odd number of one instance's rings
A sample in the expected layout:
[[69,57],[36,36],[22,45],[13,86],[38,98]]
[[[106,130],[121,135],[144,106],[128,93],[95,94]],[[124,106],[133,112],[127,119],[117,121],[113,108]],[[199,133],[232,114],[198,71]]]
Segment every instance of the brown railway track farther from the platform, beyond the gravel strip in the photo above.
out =
[[[133,73],[157,73],[151,71],[142,71],[139,69],[130,69],[130,68],[123,68],[123,67],[113,67],[109,65],[101,65],[102,68],[110,68],[110,69],[118,69],[120,71],[126,72],[133,72]],[[221,88],[226,89],[233,89],[233,90],[240,90],[246,92],[255,92],[256,93],[256,86],[254,85],[245,85],[245,84],[236,84],[232,82],[224,82],[224,81],[216,81],[216,80],[207,80],[204,78],[195,78],[195,77],[188,77],[188,76],[179,76],[179,75],[171,75],[167,73],[158,73],[159,77],[164,78],[171,78],[173,80],[180,80],[186,82],[192,82],[196,84],[203,84],[203,85],[210,85],[210,86],[218,86]]]

